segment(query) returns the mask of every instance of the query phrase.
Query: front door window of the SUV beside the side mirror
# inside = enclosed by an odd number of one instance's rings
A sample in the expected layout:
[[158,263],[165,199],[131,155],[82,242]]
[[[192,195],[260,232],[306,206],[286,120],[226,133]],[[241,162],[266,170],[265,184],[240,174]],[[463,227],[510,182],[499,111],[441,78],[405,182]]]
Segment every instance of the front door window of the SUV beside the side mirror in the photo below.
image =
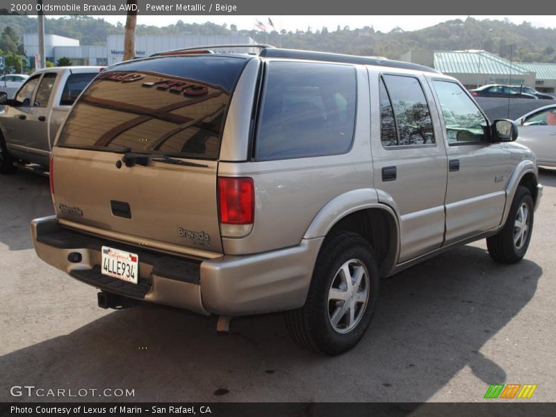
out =
[[488,122],[477,105],[457,83],[434,81],[448,135],[448,143],[485,140]]

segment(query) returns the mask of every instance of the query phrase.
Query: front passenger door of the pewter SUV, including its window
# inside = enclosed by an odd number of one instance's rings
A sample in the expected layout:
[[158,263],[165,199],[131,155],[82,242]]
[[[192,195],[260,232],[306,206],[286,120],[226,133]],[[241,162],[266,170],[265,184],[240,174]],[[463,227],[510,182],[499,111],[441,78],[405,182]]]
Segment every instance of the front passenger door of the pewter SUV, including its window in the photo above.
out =
[[496,227],[512,173],[502,143],[490,143],[489,122],[455,81],[432,80],[448,152],[445,245]]

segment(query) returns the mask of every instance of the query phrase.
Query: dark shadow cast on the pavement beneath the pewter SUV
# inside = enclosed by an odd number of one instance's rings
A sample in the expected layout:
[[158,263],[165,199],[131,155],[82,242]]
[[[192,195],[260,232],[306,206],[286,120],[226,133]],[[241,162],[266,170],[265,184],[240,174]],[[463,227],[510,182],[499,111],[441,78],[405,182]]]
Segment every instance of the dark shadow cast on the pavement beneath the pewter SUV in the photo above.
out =
[[382,281],[370,331],[340,357],[301,350],[281,315],[238,318],[218,336],[215,318],[161,306],[114,311],[0,357],[0,400],[60,400],[9,396],[10,386],[31,384],[134,389],[117,400],[136,401],[423,402],[466,366],[485,384],[506,382],[481,348],[528,304],[541,275],[532,261],[498,265],[478,247],[443,254]]

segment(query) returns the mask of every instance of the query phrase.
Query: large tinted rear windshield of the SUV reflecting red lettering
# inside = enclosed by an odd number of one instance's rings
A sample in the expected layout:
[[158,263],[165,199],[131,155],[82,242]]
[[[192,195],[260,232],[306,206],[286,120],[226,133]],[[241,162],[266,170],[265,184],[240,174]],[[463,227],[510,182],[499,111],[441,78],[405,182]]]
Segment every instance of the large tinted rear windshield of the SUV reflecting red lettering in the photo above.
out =
[[245,63],[231,56],[171,56],[116,65],[83,92],[58,146],[216,159]]

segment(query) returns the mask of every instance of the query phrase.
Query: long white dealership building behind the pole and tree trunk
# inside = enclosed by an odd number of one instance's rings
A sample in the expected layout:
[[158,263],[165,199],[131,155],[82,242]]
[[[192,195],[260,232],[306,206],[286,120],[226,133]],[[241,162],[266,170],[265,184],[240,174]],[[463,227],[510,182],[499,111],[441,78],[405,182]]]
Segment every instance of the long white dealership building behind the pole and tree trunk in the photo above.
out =
[[[23,45],[29,67],[35,67],[35,55],[39,54],[37,33],[25,33]],[[250,36],[138,36],[136,56],[143,58],[171,49],[208,45],[254,44]],[[236,52],[254,52],[254,48],[231,48]],[[70,58],[73,65],[112,65],[124,59],[124,35],[109,35],[106,46],[81,46],[79,40],[58,35],[44,35],[44,56],[56,63],[62,57]]]

